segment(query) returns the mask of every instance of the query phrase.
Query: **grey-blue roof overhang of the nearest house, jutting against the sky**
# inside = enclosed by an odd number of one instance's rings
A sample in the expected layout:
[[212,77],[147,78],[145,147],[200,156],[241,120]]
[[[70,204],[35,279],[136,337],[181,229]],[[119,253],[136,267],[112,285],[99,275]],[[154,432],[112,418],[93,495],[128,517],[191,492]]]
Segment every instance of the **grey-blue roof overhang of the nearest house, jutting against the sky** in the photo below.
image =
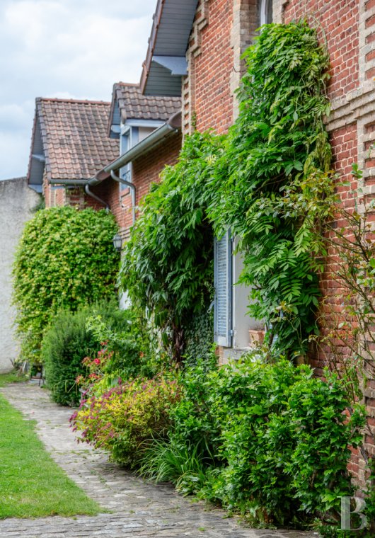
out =
[[141,90],[149,96],[180,96],[187,74],[186,50],[198,0],[158,0],[143,64]]

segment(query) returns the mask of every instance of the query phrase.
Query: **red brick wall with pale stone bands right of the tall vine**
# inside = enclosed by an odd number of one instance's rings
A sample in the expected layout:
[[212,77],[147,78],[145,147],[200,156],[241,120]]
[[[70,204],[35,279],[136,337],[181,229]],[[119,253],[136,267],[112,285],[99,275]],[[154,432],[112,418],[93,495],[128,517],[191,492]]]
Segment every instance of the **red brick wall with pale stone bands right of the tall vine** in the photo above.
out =
[[[333,166],[340,177],[350,181],[350,187],[338,188],[345,209],[354,207],[350,190],[361,188],[365,195],[375,193],[375,161],[371,155],[371,144],[375,142],[375,0],[276,0],[279,22],[306,16],[309,23],[318,29],[322,43],[326,42],[330,56],[331,79],[328,96],[333,113],[328,119],[328,131],[333,149]],[[350,171],[357,162],[364,170],[363,181],[357,184]],[[345,223],[338,222],[338,226]],[[350,236],[350,229],[347,229]],[[332,278],[340,260],[332,250],[328,253],[326,273],[321,280],[325,303],[323,313],[328,323],[342,317],[340,294],[345,292]],[[341,340],[337,350],[348,355]],[[333,360],[330,348],[311,357],[317,374]],[[364,390],[369,427],[375,433],[375,381],[369,380]],[[369,453],[375,454],[374,439],[365,438]],[[354,451],[350,471],[363,483],[365,462],[361,452]]]

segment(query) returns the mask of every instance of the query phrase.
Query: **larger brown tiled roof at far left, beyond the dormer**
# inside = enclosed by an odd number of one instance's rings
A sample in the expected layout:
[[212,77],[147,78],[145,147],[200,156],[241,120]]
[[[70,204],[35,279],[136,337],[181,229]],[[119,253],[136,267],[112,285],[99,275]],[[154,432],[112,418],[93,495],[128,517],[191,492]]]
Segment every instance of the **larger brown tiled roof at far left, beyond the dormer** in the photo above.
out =
[[45,170],[49,180],[88,179],[118,156],[108,137],[110,103],[37,98]]

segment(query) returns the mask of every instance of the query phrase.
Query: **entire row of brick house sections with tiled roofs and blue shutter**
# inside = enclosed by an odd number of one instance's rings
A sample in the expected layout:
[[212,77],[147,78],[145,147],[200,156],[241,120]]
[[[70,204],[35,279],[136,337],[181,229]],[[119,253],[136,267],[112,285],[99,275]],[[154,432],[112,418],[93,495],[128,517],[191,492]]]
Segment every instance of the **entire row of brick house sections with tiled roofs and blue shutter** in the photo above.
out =
[[[37,110],[29,183],[37,185],[37,189],[44,185],[47,205],[72,202],[68,187],[75,186],[71,193],[79,194],[80,204],[106,205],[113,210],[125,237],[134,218],[134,207],[149,183],[157,181],[164,164],[175,161],[181,134],[187,135],[195,128],[201,132],[213,128],[221,133],[233,124],[238,113],[234,91],[243,74],[241,54],[252,42],[256,29],[263,23],[288,23],[299,18],[307,18],[316,26],[330,55],[328,96],[333,112],[327,128],[333,166],[351,183],[341,189],[342,202],[352,207],[350,190],[359,186],[365,194],[374,194],[371,145],[375,132],[375,0],[158,0],[140,86],[116,84],[112,104],[102,103],[100,109],[105,105],[110,118],[105,135],[100,128],[100,136],[110,139],[111,144],[106,159],[100,164],[97,159],[98,167],[92,169],[90,177],[75,176],[75,184],[69,183],[72,168],[68,175],[54,176],[65,187],[61,193],[54,193],[50,188],[54,183],[53,151],[47,147],[47,127]],[[180,99],[182,115],[173,115],[180,108]],[[156,112],[158,105],[161,109],[166,105],[163,115]],[[76,130],[71,137],[75,135]],[[57,140],[60,160],[69,143],[59,147]],[[94,137],[90,144],[96,144]],[[353,162],[364,170],[361,185],[352,178]],[[231,247],[231,239],[225,237],[216,242],[215,248],[214,333],[221,360],[243,353],[249,346],[249,329],[260,328],[258,322],[246,316],[248,290],[235,285],[241,257],[232,256]],[[328,259],[330,263],[334,260]],[[323,277],[321,287],[328,297],[334,292],[328,277]],[[311,363],[321,374],[323,355],[311,357]],[[372,417],[369,423],[375,428],[374,380],[368,382],[365,403]],[[367,448],[375,454],[373,445]],[[363,478],[361,457],[354,455],[351,465],[354,474]]]

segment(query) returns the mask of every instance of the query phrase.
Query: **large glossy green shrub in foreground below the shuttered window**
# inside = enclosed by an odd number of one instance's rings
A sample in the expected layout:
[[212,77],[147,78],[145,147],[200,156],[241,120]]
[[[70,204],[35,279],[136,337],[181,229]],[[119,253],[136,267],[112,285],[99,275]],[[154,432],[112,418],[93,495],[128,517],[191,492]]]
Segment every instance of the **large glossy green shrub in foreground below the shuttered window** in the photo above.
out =
[[362,440],[363,410],[345,382],[289,362],[243,362],[212,376],[212,408],[221,423],[225,467],[214,487],[228,508],[256,521],[335,519],[352,486],[350,446]]

